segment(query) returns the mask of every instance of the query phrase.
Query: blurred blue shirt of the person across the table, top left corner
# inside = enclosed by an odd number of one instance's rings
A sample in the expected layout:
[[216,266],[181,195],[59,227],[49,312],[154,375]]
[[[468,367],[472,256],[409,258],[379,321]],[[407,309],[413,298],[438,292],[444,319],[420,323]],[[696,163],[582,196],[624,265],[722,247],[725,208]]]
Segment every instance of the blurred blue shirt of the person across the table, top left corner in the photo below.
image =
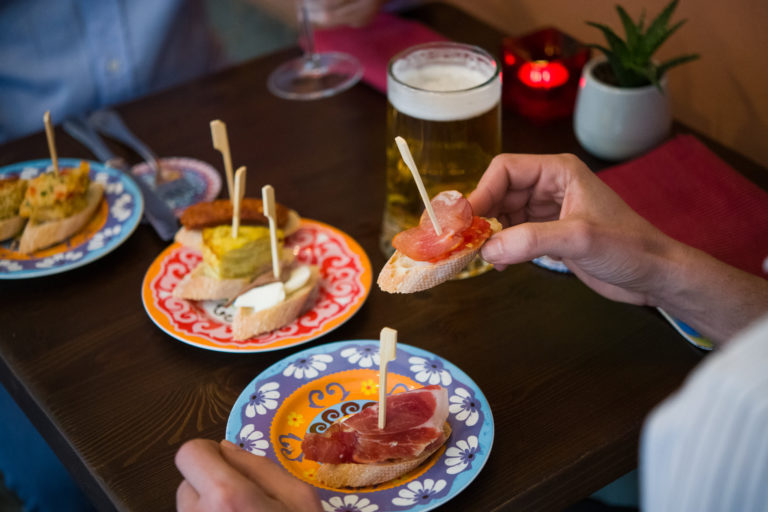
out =
[[0,142],[222,63],[201,0],[4,0]]

